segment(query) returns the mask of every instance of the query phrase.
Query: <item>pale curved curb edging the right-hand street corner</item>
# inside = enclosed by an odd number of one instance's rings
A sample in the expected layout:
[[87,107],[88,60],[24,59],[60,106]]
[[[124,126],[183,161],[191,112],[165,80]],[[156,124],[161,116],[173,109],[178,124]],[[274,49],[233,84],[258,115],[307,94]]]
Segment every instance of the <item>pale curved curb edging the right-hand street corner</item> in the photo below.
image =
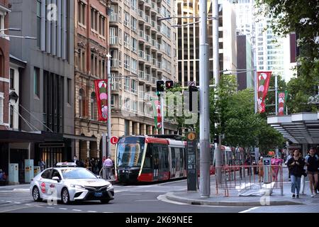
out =
[[187,199],[174,193],[164,194],[167,199],[179,201],[190,205],[208,205],[208,206],[284,206],[284,205],[303,205],[301,202],[282,200],[270,201],[269,204],[262,205],[260,201],[205,201],[203,199]]

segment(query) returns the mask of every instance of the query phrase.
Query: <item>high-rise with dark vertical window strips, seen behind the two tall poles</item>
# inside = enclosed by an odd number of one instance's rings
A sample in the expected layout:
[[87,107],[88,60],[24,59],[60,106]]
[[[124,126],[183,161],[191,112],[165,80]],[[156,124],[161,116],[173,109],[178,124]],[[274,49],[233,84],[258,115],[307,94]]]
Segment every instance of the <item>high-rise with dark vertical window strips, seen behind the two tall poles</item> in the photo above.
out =
[[[208,3],[208,46],[209,75],[213,78],[213,16],[212,1]],[[221,1],[219,4],[219,67],[223,70],[236,70],[236,18],[232,4]],[[182,26],[185,23],[198,21],[193,16],[199,16],[199,1],[175,1],[177,16],[177,75],[179,82],[187,86],[187,82],[199,82],[199,25],[198,23]],[[187,18],[188,17],[188,18]]]

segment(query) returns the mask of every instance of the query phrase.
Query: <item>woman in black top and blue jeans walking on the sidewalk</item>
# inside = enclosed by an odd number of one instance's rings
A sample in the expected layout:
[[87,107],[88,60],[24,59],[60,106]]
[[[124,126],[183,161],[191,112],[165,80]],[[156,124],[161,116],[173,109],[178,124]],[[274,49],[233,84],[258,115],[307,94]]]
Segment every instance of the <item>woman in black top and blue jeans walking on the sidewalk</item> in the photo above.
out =
[[299,198],[301,175],[303,175],[303,162],[302,158],[299,157],[299,150],[293,151],[293,157],[288,160],[287,163],[290,170],[291,177],[291,193],[292,198]]

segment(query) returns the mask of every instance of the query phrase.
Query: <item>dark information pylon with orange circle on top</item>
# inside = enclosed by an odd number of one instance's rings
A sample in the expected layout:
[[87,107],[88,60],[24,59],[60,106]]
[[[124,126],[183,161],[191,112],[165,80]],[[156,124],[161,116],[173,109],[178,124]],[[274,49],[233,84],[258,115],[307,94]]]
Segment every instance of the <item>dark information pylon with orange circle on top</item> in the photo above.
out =
[[187,157],[187,192],[197,192],[197,160],[196,160],[196,133],[187,133],[186,157]]

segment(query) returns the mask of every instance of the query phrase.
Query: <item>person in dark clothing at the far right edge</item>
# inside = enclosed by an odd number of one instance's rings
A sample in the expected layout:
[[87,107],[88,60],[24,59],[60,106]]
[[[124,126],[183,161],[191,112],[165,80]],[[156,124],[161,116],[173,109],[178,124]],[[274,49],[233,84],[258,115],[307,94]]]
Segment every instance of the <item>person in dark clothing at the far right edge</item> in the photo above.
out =
[[313,197],[317,194],[316,189],[318,185],[318,167],[319,157],[315,154],[315,150],[311,148],[309,155],[306,156],[306,166],[309,177],[310,196]]

